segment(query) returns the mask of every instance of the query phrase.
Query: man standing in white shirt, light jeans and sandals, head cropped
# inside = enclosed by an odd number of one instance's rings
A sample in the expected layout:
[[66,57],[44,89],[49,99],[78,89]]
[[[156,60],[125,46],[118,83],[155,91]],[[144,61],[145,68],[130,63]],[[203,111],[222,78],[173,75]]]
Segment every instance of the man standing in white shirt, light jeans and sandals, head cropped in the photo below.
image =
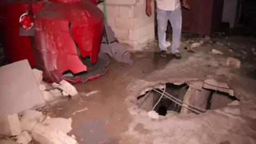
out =
[[[157,10],[157,33],[158,33],[158,44],[161,50],[161,57],[166,57],[167,47],[166,44],[166,29],[168,20],[172,26],[172,54],[175,58],[180,59],[181,54],[179,52],[180,36],[181,36],[181,4],[180,0],[156,0]],[[182,6],[189,9],[187,0],[182,0]],[[152,14],[151,0],[147,0],[146,14],[150,17]]]

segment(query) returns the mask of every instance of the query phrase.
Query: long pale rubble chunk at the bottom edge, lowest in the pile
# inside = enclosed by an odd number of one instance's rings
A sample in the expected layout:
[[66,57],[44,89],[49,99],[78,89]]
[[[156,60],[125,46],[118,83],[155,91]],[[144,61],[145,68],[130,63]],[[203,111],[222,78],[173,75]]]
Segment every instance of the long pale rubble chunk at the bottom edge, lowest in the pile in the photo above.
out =
[[60,130],[52,130],[47,126],[38,123],[33,131],[32,136],[35,141],[44,144],[77,144],[77,141]]

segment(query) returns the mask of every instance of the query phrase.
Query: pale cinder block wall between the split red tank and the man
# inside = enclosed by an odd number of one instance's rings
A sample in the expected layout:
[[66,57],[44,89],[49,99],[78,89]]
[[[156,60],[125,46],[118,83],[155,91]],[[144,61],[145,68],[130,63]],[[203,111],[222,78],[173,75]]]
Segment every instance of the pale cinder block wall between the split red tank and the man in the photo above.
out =
[[[106,3],[108,25],[120,43],[141,50],[155,39],[154,14],[146,15],[146,0],[107,0]],[[102,3],[98,7],[103,11]]]

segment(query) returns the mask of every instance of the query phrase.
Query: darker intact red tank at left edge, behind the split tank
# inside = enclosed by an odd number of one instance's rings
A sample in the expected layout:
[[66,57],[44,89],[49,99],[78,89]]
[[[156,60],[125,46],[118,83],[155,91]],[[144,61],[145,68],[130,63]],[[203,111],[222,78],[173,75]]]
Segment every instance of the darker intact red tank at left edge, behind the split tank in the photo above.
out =
[[31,66],[35,60],[29,36],[21,36],[20,16],[28,11],[32,14],[39,11],[46,3],[44,1],[4,0],[0,1],[0,43],[4,48],[7,63],[28,59]]

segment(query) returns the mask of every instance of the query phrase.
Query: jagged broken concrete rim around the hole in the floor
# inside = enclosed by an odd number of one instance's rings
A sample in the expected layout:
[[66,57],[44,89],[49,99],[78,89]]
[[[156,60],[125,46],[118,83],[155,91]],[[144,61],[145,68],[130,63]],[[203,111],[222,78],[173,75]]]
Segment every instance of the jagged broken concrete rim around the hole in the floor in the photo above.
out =
[[[185,81],[182,81],[182,82],[179,81],[178,79],[175,79],[175,78],[170,79],[169,81],[161,81],[161,82],[155,82],[155,83],[154,82],[147,82],[148,84],[146,86],[144,85],[143,88],[140,89],[141,91],[137,92],[138,93],[137,95],[128,95],[127,98],[125,99],[125,104],[127,106],[127,109],[129,111],[130,115],[132,115],[132,116],[147,116],[147,117],[151,117],[153,119],[166,119],[166,118],[169,118],[169,117],[159,116],[157,118],[157,116],[154,115],[153,112],[149,111],[150,113],[148,113],[146,110],[140,109],[138,107],[137,97],[139,97],[140,95],[146,94],[147,92],[149,92],[150,90],[153,90],[153,89],[163,89],[164,84],[166,84],[166,83],[173,83],[173,84],[178,84],[178,85],[186,83],[189,86],[189,84],[191,85],[191,84],[195,84],[195,83],[203,83],[204,84],[204,82],[207,81],[207,80],[218,82],[216,79],[214,79],[211,76],[209,76],[209,78],[193,78],[193,79],[187,78]],[[141,82],[145,83],[146,81],[141,80]],[[232,90],[229,87],[228,81],[226,83],[224,83],[224,82],[218,82],[218,83],[222,83],[224,86],[226,86],[225,87],[226,89],[229,88],[229,90],[233,91],[233,93],[231,92],[231,93],[227,93],[227,94],[233,94],[233,96],[234,96],[234,90]],[[131,87],[132,87],[131,85],[127,86],[127,89],[131,89]],[[202,88],[203,88],[203,85],[202,85]],[[232,96],[232,95],[230,95],[230,96]],[[233,106],[232,102],[229,103],[228,106],[226,106],[226,107],[230,107],[230,106]],[[224,108],[226,108],[226,107],[224,107]],[[218,110],[218,109],[214,109],[214,110]],[[207,110],[207,111],[214,111],[214,110]],[[207,111],[206,111],[206,113],[207,113]],[[205,114],[205,113],[203,113],[203,114]],[[188,115],[188,117],[189,116],[190,115]]]

